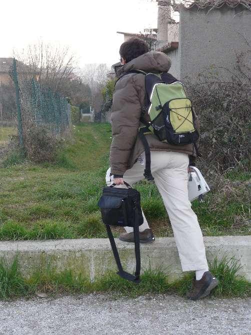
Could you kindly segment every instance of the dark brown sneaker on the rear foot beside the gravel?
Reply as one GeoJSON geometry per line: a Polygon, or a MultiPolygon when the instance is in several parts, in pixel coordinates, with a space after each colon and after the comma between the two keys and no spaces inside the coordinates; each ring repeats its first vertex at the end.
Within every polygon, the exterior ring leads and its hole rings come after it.
{"type": "Polygon", "coordinates": [[[217,284],[218,279],[213,277],[209,271],[206,271],[200,280],[193,279],[192,288],[186,296],[191,300],[201,299],[208,295],[217,284]]]}

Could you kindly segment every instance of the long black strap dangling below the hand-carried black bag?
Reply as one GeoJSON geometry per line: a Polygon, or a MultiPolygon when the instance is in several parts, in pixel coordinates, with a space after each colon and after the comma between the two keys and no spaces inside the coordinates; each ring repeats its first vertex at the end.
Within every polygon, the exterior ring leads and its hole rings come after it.
{"type": "Polygon", "coordinates": [[[140,274],[140,246],[139,246],[139,229],[138,229],[138,215],[137,215],[137,211],[136,209],[134,209],[134,227],[133,227],[133,234],[134,234],[134,244],[135,244],[135,258],[136,258],[136,270],[135,270],[135,275],[128,273],[126,271],[123,270],[121,262],[120,262],[120,258],[119,258],[119,254],[117,251],[117,247],[116,247],[116,243],[114,241],[114,237],[112,235],[112,232],[110,230],[110,226],[109,225],[105,225],[106,230],[107,230],[107,234],[109,237],[109,241],[110,241],[110,245],[111,245],[111,249],[117,264],[117,274],[126,279],[126,280],[130,280],[133,281],[134,283],[139,283],[140,279],[139,279],[139,274],[140,274]]]}

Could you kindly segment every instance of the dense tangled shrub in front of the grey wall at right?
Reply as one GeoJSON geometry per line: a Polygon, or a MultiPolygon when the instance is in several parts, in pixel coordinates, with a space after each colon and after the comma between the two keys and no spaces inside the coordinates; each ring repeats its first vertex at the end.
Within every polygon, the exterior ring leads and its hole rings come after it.
{"type": "Polygon", "coordinates": [[[187,85],[200,119],[202,158],[198,165],[206,175],[250,167],[251,69],[245,61],[248,53],[237,56],[231,80],[224,81],[208,69],[195,85],[187,85]]]}

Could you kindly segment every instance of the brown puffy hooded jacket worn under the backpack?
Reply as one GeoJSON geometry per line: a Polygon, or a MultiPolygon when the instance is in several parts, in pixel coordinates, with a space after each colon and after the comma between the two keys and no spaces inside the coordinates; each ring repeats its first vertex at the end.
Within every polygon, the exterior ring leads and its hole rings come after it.
{"type": "MultiPolygon", "coordinates": [[[[111,174],[122,176],[130,169],[138,156],[144,152],[144,147],[138,137],[140,115],[144,105],[145,76],[139,73],[124,73],[132,70],[142,70],[146,73],[167,72],[171,62],[161,52],[143,54],[123,66],[115,67],[120,78],[114,89],[111,127],[112,142],[110,146],[111,174]]],[[[195,121],[198,128],[198,120],[195,121]]],[[[196,157],[192,144],[171,145],[158,140],[155,135],[146,136],[151,151],[176,151],[196,157]]]]}

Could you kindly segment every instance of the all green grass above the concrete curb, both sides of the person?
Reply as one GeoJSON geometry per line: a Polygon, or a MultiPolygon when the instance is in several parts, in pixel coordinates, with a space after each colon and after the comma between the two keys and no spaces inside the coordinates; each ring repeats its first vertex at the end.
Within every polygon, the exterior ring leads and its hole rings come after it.
{"type": "MultiPolygon", "coordinates": [[[[23,162],[0,168],[0,240],[106,237],[96,204],[104,185],[110,142],[110,125],[82,124],[74,128],[72,143],[58,154],[56,164],[23,162]]],[[[193,202],[204,234],[251,233],[251,175],[241,176],[235,193],[217,196],[211,192],[204,204],[193,202]]],[[[234,182],[240,175],[231,178],[234,182]]],[[[155,235],[171,236],[155,186],[143,181],[136,187],[155,235]]]]}

